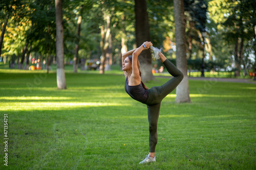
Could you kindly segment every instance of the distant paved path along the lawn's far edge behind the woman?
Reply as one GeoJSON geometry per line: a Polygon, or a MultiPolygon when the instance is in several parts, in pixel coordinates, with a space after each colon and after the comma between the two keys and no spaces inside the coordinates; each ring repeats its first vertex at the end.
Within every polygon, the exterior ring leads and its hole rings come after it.
{"type": "MultiPolygon", "coordinates": [[[[166,76],[156,76],[161,78],[167,78],[166,76]]],[[[234,79],[234,78],[201,78],[201,77],[188,77],[188,80],[206,80],[206,81],[219,81],[219,82],[233,82],[233,83],[249,83],[256,84],[256,81],[253,79],[234,79]]]]}

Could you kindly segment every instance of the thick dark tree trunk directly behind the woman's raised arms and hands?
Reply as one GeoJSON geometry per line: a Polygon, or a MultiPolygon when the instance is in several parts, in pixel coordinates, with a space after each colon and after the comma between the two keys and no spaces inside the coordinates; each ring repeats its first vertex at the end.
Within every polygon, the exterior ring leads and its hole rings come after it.
{"type": "MultiPolygon", "coordinates": [[[[148,24],[147,4],[145,0],[135,0],[135,33],[137,47],[145,41],[150,41],[150,26],[148,24]]],[[[143,82],[153,80],[150,51],[143,51],[139,56],[139,61],[141,80],[143,82]]]]}

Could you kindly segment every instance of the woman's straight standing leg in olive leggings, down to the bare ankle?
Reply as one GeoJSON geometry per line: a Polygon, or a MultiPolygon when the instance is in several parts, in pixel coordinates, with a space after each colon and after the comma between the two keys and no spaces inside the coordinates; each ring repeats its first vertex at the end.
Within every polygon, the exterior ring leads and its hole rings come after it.
{"type": "Polygon", "coordinates": [[[157,145],[157,123],[160,112],[161,103],[156,105],[147,105],[147,118],[150,130],[150,156],[155,157],[155,149],[157,145]],[[153,154],[154,153],[154,154],[153,154]]]}

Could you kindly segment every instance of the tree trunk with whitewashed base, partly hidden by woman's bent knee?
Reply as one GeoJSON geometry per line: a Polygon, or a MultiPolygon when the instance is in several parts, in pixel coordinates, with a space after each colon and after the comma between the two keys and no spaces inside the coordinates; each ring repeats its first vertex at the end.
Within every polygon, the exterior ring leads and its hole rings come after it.
{"type": "Polygon", "coordinates": [[[187,60],[186,60],[186,40],[185,40],[185,16],[184,1],[174,0],[175,36],[176,36],[176,64],[182,71],[184,78],[176,88],[176,103],[190,102],[187,60]]]}

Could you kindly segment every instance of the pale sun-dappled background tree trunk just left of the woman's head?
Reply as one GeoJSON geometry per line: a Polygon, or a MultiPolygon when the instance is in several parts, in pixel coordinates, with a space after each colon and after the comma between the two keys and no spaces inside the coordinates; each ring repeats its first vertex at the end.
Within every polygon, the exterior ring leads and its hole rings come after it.
{"type": "Polygon", "coordinates": [[[104,17],[105,24],[101,26],[100,48],[101,48],[102,56],[100,59],[100,67],[99,67],[100,74],[104,74],[106,51],[109,48],[109,36],[110,36],[110,14],[105,12],[103,17],[104,17]]]}

